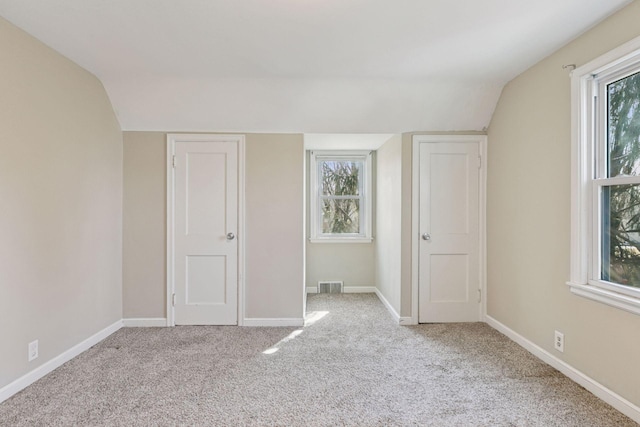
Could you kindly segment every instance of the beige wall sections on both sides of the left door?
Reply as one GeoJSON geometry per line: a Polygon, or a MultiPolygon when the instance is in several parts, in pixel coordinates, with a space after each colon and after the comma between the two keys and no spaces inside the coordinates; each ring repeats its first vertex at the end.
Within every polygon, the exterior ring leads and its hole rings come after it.
{"type": "MultiPolygon", "coordinates": [[[[166,133],[124,133],[125,318],[166,317],[166,133]]],[[[303,317],[302,135],[246,135],[245,317],[303,317]]]]}

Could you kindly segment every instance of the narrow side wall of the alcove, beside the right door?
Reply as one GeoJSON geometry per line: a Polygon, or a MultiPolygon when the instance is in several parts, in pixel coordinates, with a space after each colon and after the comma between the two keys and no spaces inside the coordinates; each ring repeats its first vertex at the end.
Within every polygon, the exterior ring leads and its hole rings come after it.
{"type": "Polygon", "coordinates": [[[402,283],[402,136],[378,149],[376,198],[376,287],[400,313],[402,283]]]}

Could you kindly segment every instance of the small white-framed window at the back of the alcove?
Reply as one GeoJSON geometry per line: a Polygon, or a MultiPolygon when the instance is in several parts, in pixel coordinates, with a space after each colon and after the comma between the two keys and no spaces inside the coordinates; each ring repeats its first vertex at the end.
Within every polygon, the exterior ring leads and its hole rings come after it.
{"type": "Polygon", "coordinates": [[[371,153],[311,152],[311,241],[371,241],[371,153]]]}

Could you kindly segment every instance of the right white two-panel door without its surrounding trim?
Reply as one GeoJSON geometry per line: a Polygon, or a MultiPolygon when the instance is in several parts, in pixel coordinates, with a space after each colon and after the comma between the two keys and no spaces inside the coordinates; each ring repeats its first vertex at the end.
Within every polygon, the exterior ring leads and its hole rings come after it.
{"type": "Polygon", "coordinates": [[[420,323],[480,320],[479,143],[420,143],[420,323]]]}

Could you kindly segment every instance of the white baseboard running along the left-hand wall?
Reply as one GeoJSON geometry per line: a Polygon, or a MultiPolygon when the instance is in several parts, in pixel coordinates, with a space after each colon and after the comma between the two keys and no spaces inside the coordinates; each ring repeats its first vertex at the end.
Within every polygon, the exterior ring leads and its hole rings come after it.
{"type": "Polygon", "coordinates": [[[120,328],[122,328],[122,320],[118,320],[114,324],[107,326],[100,332],[97,332],[92,336],[90,336],[89,338],[87,338],[86,340],[80,342],[79,344],[74,345],[69,350],[63,352],[62,354],[59,354],[58,356],[54,357],[48,362],[43,363],[42,365],[38,366],[37,368],[28,372],[27,374],[21,376],[20,378],[13,381],[12,383],[9,383],[6,386],[0,388],[0,403],[4,402],[8,398],[13,396],[17,392],[19,392],[20,390],[24,389],[25,387],[38,381],[40,378],[44,377],[49,372],[62,366],[69,360],[78,356],[80,353],[98,344],[100,341],[102,341],[112,333],[116,332],[120,328]]]}

